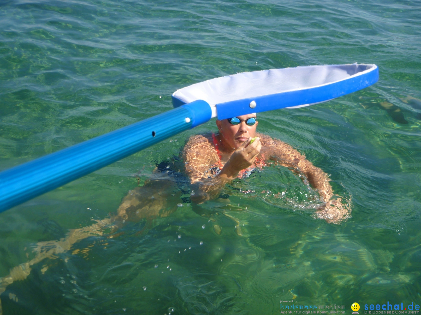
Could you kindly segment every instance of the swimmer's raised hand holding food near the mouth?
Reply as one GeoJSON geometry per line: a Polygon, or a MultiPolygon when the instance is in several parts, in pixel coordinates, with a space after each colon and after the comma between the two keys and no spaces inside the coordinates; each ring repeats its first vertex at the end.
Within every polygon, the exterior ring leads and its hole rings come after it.
{"type": "Polygon", "coordinates": [[[232,179],[237,177],[240,171],[253,165],[254,160],[260,153],[262,145],[259,137],[256,137],[255,141],[251,144],[250,140],[251,137],[232,153],[228,162],[222,168],[221,174],[225,174],[227,178],[232,179]]]}

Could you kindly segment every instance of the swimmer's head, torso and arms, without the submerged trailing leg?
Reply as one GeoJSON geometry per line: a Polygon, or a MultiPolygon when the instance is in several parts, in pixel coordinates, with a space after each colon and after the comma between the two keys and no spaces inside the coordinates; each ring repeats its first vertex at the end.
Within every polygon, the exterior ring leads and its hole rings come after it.
{"type": "Polygon", "coordinates": [[[192,184],[192,202],[203,203],[218,197],[225,184],[271,161],[304,174],[323,202],[316,212],[318,218],[339,223],[349,217],[349,209],[341,203],[341,198],[332,199],[326,173],[290,145],[256,134],[255,113],[217,120],[216,125],[218,134],[192,136],[184,146],[183,160],[192,184]],[[255,136],[256,140],[250,144],[255,136]]]}

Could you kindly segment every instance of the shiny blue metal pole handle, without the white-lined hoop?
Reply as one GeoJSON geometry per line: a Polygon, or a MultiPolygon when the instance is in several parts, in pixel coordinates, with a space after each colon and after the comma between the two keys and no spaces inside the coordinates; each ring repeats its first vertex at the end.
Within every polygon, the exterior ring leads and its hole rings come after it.
{"type": "Polygon", "coordinates": [[[0,212],[209,121],[198,100],[0,173],[0,212]]]}

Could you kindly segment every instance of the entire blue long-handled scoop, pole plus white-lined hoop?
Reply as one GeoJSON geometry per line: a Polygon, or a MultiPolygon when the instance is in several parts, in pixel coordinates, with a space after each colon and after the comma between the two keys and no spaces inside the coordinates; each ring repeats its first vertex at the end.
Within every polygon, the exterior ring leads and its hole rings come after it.
{"type": "Polygon", "coordinates": [[[193,84],[173,93],[173,110],[1,172],[0,212],[210,118],[308,106],[376,81],[376,65],[354,63],[244,72],[193,84]]]}

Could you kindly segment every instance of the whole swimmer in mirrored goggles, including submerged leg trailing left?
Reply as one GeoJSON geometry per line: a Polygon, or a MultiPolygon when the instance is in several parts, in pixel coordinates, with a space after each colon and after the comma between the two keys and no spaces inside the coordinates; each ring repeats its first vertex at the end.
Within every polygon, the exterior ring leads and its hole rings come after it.
{"type": "MultiPolygon", "coordinates": [[[[221,189],[234,178],[248,176],[253,169],[261,168],[271,161],[304,174],[323,202],[315,212],[318,218],[328,223],[340,223],[349,217],[349,207],[341,203],[341,198],[331,199],[333,191],[326,173],[290,145],[270,136],[256,134],[256,114],[217,120],[216,125],[218,134],[192,136],[182,152],[184,172],[191,185],[192,202],[203,203],[217,198],[221,189]],[[250,144],[250,140],[255,136],[256,140],[250,144]]],[[[174,178],[162,172],[155,172],[144,186],[138,186],[128,192],[117,209],[117,215],[96,220],[91,226],[71,229],[62,239],[35,244],[32,251],[35,257],[32,260],[12,268],[9,275],[0,278],[0,294],[14,281],[27,278],[32,265],[45,258],[55,259],[67,251],[72,251],[74,255],[87,255],[89,249],[74,248],[74,244],[82,239],[91,236],[114,238],[123,233],[120,230],[126,221],[146,220],[147,223],[140,233],[147,231],[155,218],[166,217],[178,208],[180,196],[181,192],[174,178]]],[[[224,215],[236,221],[238,227],[236,218],[228,213],[224,215]]],[[[219,234],[220,228],[215,225],[214,229],[219,234]]],[[[241,235],[240,229],[237,229],[237,233],[241,235]]],[[[47,269],[48,264],[44,264],[42,273],[47,269]]]]}

